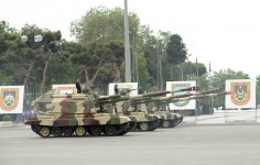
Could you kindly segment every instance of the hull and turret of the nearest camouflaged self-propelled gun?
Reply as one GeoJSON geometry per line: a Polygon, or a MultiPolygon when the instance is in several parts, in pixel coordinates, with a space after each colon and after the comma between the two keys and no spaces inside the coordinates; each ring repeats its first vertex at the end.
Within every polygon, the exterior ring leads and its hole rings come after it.
{"type": "MultiPolygon", "coordinates": [[[[111,96],[118,97],[118,96],[111,96]]],[[[90,135],[122,135],[129,131],[128,117],[109,113],[98,113],[100,100],[111,97],[97,97],[94,94],[61,95],[48,91],[32,102],[37,111],[36,117],[30,118],[32,131],[42,138],[90,135]]]]}

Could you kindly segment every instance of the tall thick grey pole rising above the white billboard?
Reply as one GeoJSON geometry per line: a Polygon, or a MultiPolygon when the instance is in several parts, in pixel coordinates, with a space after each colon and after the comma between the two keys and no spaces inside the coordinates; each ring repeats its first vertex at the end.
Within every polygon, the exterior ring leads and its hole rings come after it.
{"type": "Polygon", "coordinates": [[[128,1],[124,0],[124,65],[126,65],[126,82],[131,82],[131,54],[129,43],[129,22],[128,22],[128,1]]]}

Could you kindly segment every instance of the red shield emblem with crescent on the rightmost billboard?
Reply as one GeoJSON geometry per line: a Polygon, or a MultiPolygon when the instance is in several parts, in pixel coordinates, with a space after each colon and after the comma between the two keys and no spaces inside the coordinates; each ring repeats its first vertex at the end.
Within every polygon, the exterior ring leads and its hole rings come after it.
{"type": "Polygon", "coordinates": [[[237,106],[245,106],[250,100],[250,82],[231,82],[231,101],[237,106]]]}

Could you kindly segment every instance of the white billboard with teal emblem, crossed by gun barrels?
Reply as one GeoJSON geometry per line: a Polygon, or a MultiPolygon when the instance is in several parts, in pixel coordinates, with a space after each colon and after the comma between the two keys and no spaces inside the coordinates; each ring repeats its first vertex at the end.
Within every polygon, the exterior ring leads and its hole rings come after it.
{"type": "MultiPolygon", "coordinates": [[[[188,88],[196,86],[196,81],[166,81],[166,90],[178,90],[183,88],[188,88]]],[[[184,95],[184,94],[189,94],[191,91],[182,91],[182,92],[175,92],[175,94],[169,94],[167,97],[170,96],[177,96],[177,95],[184,95]]],[[[196,101],[195,100],[186,100],[186,101],[180,101],[180,102],[173,102],[170,103],[170,109],[171,110],[191,110],[191,109],[196,109],[196,101]]]]}

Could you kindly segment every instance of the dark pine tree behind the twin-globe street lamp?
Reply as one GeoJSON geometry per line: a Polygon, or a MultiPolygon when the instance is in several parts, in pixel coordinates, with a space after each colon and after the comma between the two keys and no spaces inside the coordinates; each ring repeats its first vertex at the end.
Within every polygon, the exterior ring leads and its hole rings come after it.
{"type": "Polygon", "coordinates": [[[22,35],[28,36],[28,41],[23,46],[26,50],[23,55],[25,57],[23,61],[24,65],[28,65],[29,62],[29,67],[25,69],[24,85],[28,84],[29,77],[34,69],[34,77],[36,74],[42,75],[40,86],[40,94],[42,95],[45,88],[47,67],[59,50],[58,42],[62,38],[62,34],[59,31],[52,32],[47,29],[40,29],[36,25],[26,24],[22,29],[22,35]],[[36,42],[36,35],[42,35],[43,40],[36,42]]]}

